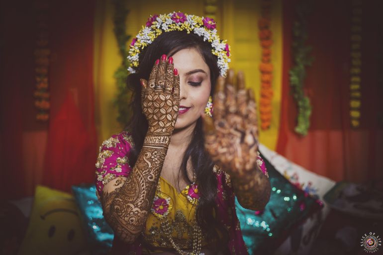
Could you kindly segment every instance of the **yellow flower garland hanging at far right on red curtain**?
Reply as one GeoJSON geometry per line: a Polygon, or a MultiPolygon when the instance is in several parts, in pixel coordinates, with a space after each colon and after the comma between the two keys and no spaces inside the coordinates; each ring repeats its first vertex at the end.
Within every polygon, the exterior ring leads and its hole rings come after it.
{"type": "Polygon", "coordinates": [[[352,1],[351,21],[350,120],[351,127],[358,128],[361,118],[362,0],[352,1]]]}

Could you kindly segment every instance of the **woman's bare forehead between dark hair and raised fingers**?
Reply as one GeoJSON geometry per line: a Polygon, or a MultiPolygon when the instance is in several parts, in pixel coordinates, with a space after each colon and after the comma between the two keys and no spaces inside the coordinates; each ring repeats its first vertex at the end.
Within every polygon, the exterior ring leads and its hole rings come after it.
{"type": "Polygon", "coordinates": [[[203,60],[201,54],[194,48],[180,50],[172,57],[174,67],[177,68],[180,73],[189,72],[194,69],[202,69],[207,74],[209,73],[209,67],[203,60]]]}

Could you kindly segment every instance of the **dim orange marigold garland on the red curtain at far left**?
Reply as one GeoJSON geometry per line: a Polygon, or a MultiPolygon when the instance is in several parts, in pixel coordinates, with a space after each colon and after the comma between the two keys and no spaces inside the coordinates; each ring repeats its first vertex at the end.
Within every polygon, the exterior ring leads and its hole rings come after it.
{"type": "Polygon", "coordinates": [[[38,109],[36,119],[43,122],[49,119],[50,109],[48,71],[51,50],[48,40],[47,6],[47,2],[36,2],[37,38],[34,50],[36,90],[33,95],[36,98],[34,105],[38,109]]]}

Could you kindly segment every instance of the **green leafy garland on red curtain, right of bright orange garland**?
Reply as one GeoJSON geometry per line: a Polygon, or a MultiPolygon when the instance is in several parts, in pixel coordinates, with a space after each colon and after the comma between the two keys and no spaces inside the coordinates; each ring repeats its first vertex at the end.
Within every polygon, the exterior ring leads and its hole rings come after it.
{"type": "Polygon", "coordinates": [[[306,66],[311,66],[313,57],[309,56],[312,47],[305,45],[308,38],[307,16],[313,8],[313,0],[300,0],[296,5],[297,20],[292,27],[292,58],[294,65],[289,71],[292,95],[298,107],[297,125],[294,131],[302,136],[307,135],[310,127],[310,98],[303,91],[306,77],[306,66]]]}

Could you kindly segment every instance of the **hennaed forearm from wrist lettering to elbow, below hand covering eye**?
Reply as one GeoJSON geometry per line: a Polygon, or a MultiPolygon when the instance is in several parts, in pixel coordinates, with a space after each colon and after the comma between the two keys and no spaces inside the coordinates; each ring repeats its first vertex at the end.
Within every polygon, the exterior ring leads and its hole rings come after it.
{"type": "Polygon", "coordinates": [[[145,227],[169,141],[167,136],[147,136],[130,175],[102,195],[105,220],[123,242],[134,242],[145,227]],[[159,140],[166,142],[150,142],[159,140]]]}

